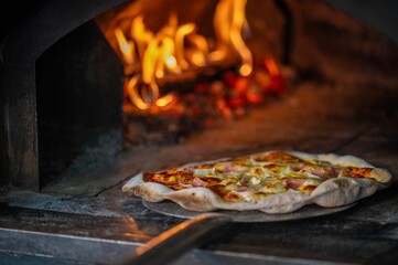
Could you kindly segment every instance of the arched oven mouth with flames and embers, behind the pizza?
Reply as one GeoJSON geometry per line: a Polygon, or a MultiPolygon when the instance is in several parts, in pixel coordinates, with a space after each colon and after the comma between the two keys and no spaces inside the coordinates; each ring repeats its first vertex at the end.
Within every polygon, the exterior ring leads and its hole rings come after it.
{"type": "Polygon", "coordinates": [[[190,161],[351,152],[375,123],[395,117],[396,46],[329,3],[121,2],[88,9],[104,10],[86,22],[66,10],[73,29],[34,60],[26,51],[35,42],[18,42],[15,56],[26,53],[20,60],[33,72],[4,65],[4,84],[32,93],[7,88],[19,105],[2,103],[6,186],[98,194],[190,161]]]}

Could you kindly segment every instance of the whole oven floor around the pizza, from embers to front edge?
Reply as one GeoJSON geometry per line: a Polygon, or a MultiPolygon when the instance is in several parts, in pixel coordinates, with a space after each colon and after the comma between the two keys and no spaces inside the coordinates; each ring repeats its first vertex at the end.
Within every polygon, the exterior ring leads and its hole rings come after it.
{"type": "MultiPolygon", "coordinates": [[[[121,186],[141,170],[271,149],[354,155],[398,176],[397,82],[302,83],[178,146],[137,147],[101,172],[0,197],[1,264],[109,264],[182,222],[121,186]],[[99,177],[98,177],[99,176],[99,177]]],[[[332,215],[230,224],[175,264],[363,264],[398,259],[398,184],[332,215]]]]}

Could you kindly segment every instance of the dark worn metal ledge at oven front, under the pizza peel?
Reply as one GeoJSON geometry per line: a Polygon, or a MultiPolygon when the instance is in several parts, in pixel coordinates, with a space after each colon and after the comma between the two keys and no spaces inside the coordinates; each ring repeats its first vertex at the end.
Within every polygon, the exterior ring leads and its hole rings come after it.
{"type": "MultiPolygon", "coordinates": [[[[230,223],[172,264],[395,264],[397,205],[394,183],[331,215],[230,223]]],[[[111,263],[182,221],[149,210],[140,198],[121,191],[95,198],[1,193],[0,264],[111,263]]]]}

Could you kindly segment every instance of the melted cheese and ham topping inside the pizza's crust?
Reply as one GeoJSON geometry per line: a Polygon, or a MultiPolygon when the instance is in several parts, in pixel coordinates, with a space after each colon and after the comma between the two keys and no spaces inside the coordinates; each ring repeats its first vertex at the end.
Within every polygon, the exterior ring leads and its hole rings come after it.
{"type": "Polygon", "coordinates": [[[331,178],[373,178],[374,174],[373,168],[338,167],[275,151],[146,173],[144,181],[162,183],[172,190],[205,187],[226,201],[254,202],[276,193],[311,194],[318,186],[331,178]]]}

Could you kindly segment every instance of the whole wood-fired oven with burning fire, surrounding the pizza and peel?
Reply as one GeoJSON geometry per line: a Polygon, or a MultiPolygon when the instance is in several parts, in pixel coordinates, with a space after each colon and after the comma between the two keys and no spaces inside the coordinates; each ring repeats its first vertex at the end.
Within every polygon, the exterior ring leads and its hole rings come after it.
{"type": "MultiPolygon", "coordinates": [[[[239,24],[239,2],[40,1],[22,18],[4,6],[0,261],[114,263],[180,223],[121,193],[142,170],[298,149],[398,174],[394,23],[374,23],[387,17],[369,1],[346,13],[248,0],[239,24]]],[[[394,183],[330,216],[232,224],[176,263],[392,263],[397,194],[394,183]]]]}

